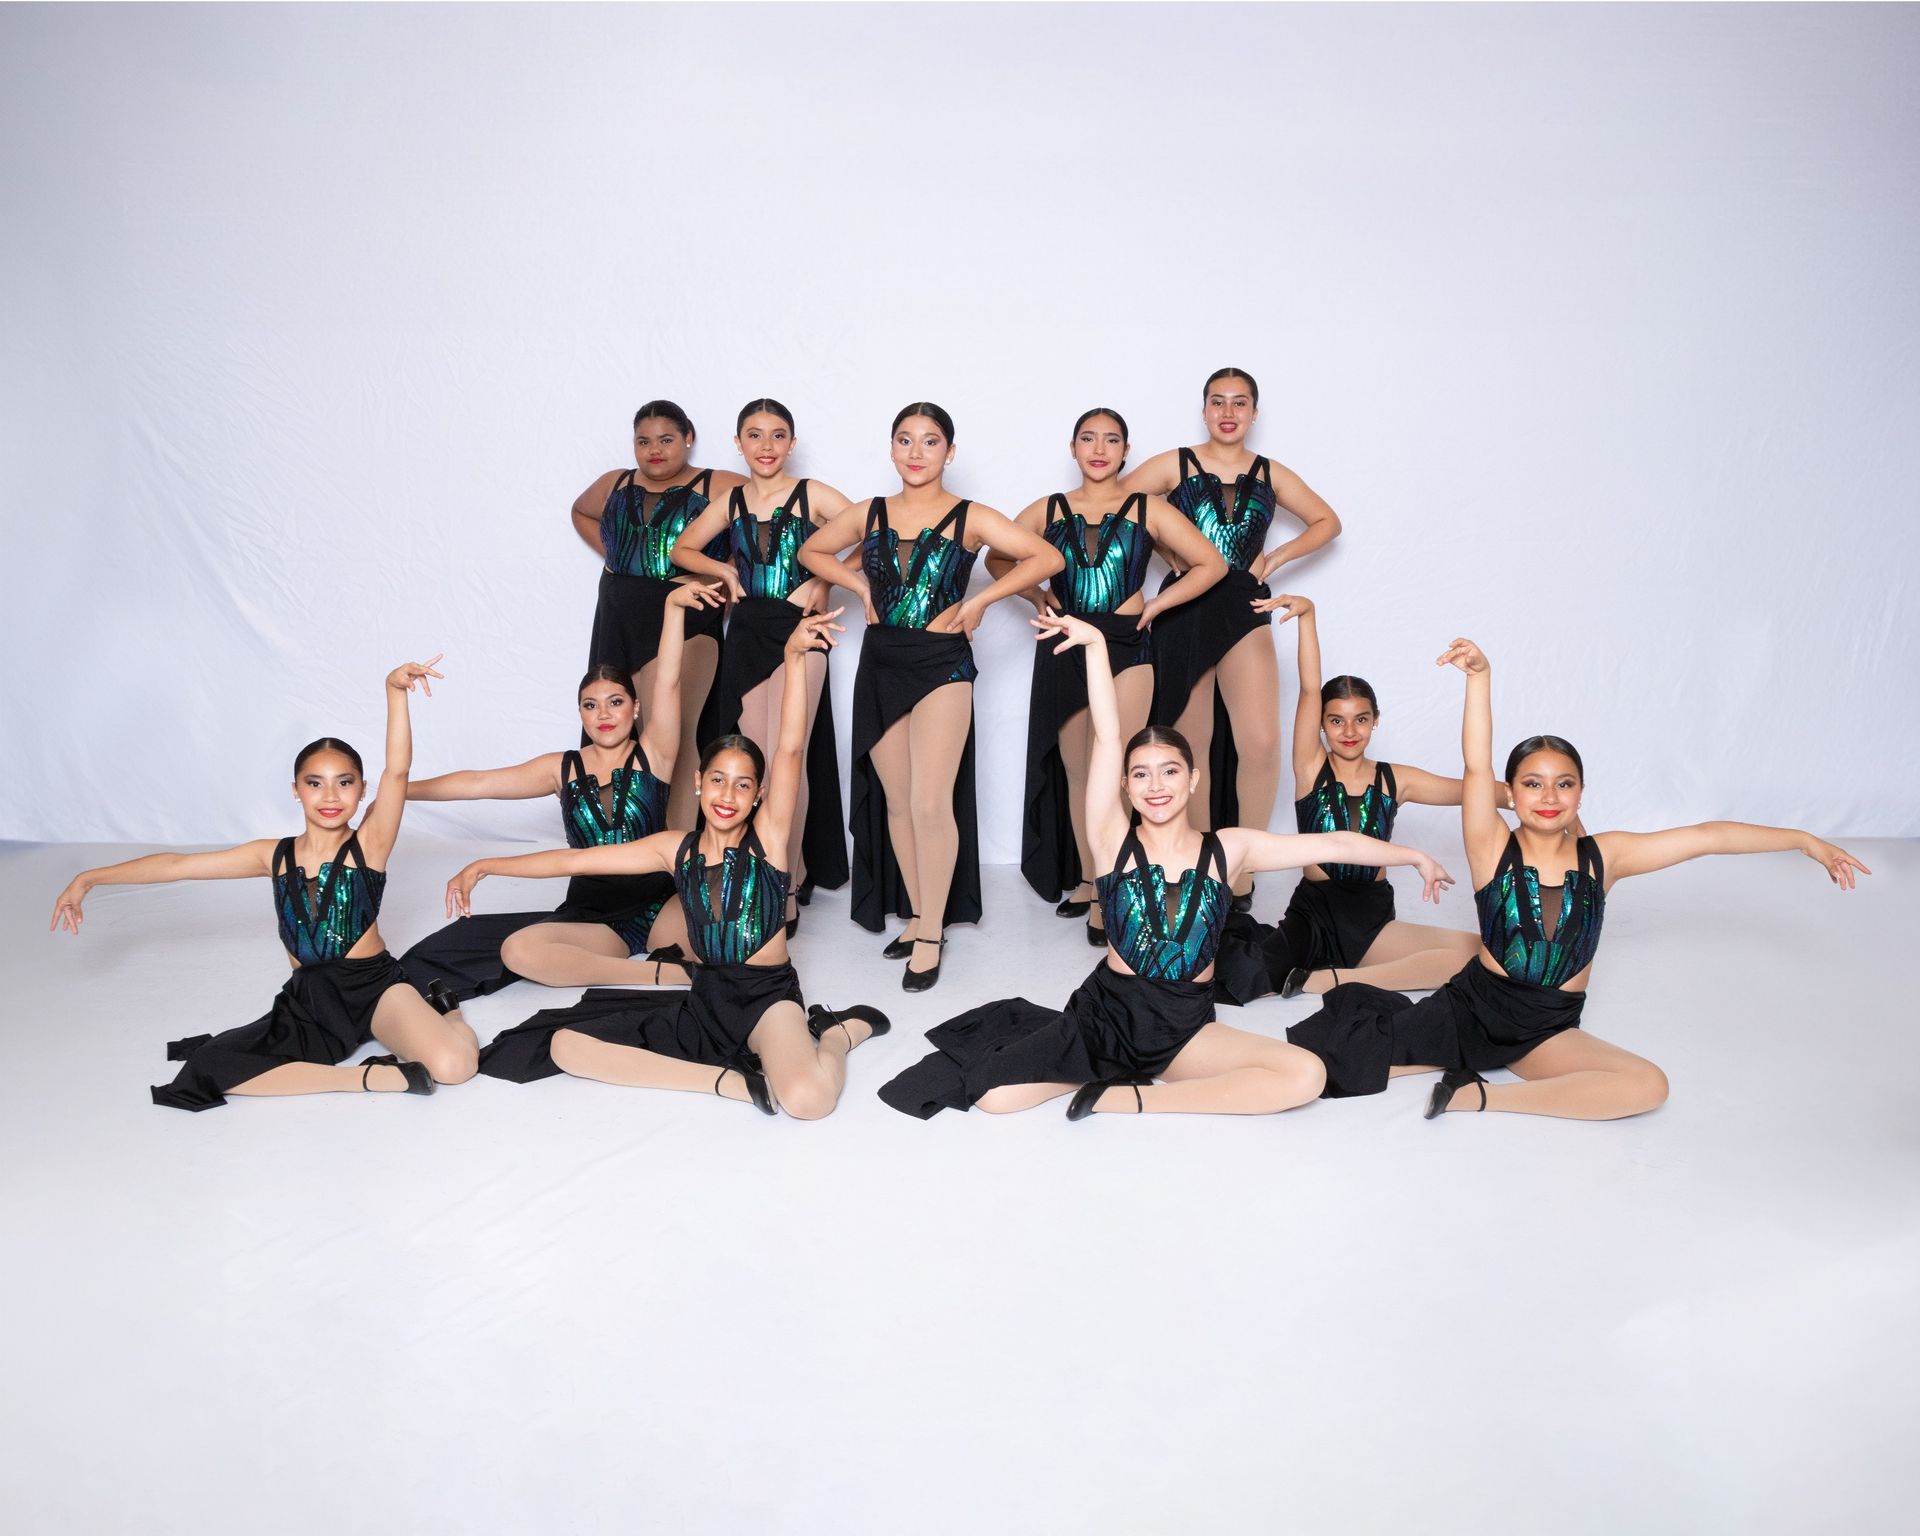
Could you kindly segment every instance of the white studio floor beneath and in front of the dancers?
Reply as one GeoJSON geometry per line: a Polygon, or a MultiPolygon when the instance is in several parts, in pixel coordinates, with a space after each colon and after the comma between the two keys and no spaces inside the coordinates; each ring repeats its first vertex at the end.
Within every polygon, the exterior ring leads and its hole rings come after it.
{"type": "MultiPolygon", "coordinates": [[[[897,1116],[927,1025],[1092,964],[1004,868],[918,998],[808,910],[808,995],[897,1025],[822,1123],[564,1079],[186,1116],[163,1043],[284,977],[265,887],[102,891],[75,941],[56,891],[125,852],[0,851],[4,1526],[1912,1530],[1920,845],[1855,851],[1853,895],[1791,856],[1615,895],[1588,1023],[1672,1077],[1617,1125],[1425,1123],[1423,1083],[897,1116]]],[[[401,845],[396,948],[465,856],[401,845]]]]}

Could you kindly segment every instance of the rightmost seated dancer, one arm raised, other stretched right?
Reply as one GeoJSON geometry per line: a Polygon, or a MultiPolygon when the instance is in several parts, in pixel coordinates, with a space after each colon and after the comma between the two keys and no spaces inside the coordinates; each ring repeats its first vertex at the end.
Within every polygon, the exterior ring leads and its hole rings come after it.
{"type": "Polygon", "coordinates": [[[1519,820],[1509,829],[1494,781],[1486,657],[1471,639],[1455,639],[1440,664],[1467,674],[1459,820],[1480,908],[1480,952],[1419,1002],[1342,983],[1286,1039],[1327,1064],[1329,1098],[1380,1092],[1402,1073],[1438,1071],[1428,1119],[1442,1110],[1622,1119],[1659,1108],[1667,1102],[1665,1073],[1580,1027],[1613,885],[1713,852],[1797,851],[1847,891],[1868,870],[1809,831],[1745,822],[1578,835],[1586,770],[1557,735],[1532,735],[1507,755],[1519,820]],[[1521,1081],[1488,1083],[1480,1073],[1494,1068],[1521,1081]]]}

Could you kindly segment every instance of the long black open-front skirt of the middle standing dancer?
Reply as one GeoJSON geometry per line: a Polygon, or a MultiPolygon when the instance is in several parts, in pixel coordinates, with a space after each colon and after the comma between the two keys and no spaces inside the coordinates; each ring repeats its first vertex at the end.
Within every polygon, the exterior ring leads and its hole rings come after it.
{"type": "MultiPolygon", "coordinates": [[[[912,916],[906,881],[893,856],[887,791],[874,766],[874,747],[887,726],[935,687],[973,682],[973,647],[966,636],[868,624],[852,676],[852,920],[879,933],[887,914],[912,916]]],[[[960,847],[941,925],[979,922],[979,812],[973,803],[973,705],[968,701],[966,749],[954,778],[954,828],[960,847]]]]}

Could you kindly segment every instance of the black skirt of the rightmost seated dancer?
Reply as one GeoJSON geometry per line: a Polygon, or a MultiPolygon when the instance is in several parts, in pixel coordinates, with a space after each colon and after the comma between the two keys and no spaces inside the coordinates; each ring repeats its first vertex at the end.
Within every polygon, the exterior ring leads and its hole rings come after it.
{"type": "Polygon", "coordinates": [[[1352,1098],[1384,1089],[1388,1068],[1503,1068],[1578,1029],[1582,1008],[1586,993],[1513,981],[1475,956],[1419,1002],[1344,981],[1286,1039],[1327,1064],[1321,1098],[1352,1098]]]}

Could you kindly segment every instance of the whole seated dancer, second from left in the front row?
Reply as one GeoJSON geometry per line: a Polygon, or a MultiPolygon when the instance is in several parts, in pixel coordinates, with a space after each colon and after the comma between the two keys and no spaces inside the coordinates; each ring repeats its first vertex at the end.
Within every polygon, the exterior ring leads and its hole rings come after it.
{"type": "Polygon", "coordinates": [[[447,908],[465,912],[490,874],[639,876],[670,872],[699,966],[691,993],[589,991],[572,1008],[547,1008],[501,1033],[480,1071],[511,1083],[555,1073],[637,1089],[684,1089],[778,1104],[818,1119],[839,1102],[847,1052],[887,1033],[872,1008],[803,1012],[801,979],[787,958],[787,847],[806,756],[806,653],[833,645],[839,609],[808,614],[785,647],[780,747],[766,770],[743,735],[710,741],[699,772],[693,831],[637,843],[482,858],[447,885],[447,908]]]}

